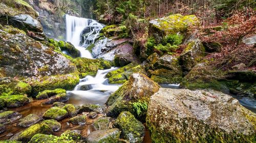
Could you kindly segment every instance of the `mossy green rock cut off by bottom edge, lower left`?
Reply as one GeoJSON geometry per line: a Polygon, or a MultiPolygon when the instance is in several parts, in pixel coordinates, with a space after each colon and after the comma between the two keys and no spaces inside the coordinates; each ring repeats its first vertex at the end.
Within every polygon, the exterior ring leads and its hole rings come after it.
{"type": "Polygon", "coordinates": [[[52,142],[54,140],[53,135],[48,134],[35,134],[29,141],[29,143],[46,143],[46,142],[52,142]]]}

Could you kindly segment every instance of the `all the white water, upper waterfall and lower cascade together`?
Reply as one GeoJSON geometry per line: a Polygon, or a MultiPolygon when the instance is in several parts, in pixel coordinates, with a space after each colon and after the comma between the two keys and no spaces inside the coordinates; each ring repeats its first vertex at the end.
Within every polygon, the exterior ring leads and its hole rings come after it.
{"type": "MultiPolygon", "coordinates": [[[[92,54],[86,50],[86,47],[95,42],[103,25],[92,19],[66,15],[66,26],[67,41],[71,42],[81,52],[81,57],[93,59],[92,54]],[[79,45],[81,32],[87,27],[90,28],[90,32],[86,34],[83,45],[79,45]]],[[[116,69],[112,67],[108,70],[98,70],[95,77],[86,76],[80,79],[75,89],[67,92],[70,94],[70,102],[78,105],[84,103],[104,104],[110,94],[119,88],[119,85],[108,84],[108,79],[105,78],[108,72],[116,69]],[[91,89],[87,91],[80,90],[82,85],[90,85],[91,89]]]]}

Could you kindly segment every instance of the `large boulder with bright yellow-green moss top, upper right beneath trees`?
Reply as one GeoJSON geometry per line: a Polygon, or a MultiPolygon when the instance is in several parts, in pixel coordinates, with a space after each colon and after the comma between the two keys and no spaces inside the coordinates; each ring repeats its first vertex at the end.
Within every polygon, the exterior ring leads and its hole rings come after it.
{"type": "Polygon", "coordinates": [[[150,21],[148,34],[159,43],[163,37],[169,34],[184,34],[189,25],[199,25],[199,19],[195,15],[182,16],[173,14],[160,19],[150,21]]]}

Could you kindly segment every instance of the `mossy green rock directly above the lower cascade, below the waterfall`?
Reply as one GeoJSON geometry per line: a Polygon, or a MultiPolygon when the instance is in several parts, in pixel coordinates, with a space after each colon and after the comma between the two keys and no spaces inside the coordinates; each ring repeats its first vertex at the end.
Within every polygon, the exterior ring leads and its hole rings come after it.
{"type": "Polygon", "coordinates": [[[94,76],[97,74],[98,70],[111,68],[111,63],[102,59],[76,58],[73,62],[75,63],[81,78],[87,75],[94,76]]]}

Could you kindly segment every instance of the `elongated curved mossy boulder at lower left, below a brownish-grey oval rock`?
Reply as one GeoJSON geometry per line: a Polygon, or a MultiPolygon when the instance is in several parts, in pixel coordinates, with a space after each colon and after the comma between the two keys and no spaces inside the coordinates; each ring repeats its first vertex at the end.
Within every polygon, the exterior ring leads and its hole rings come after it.
{"type": "Polygon", "coordinates": [[[26,130],[22,131],[18,135],[17,140],[22,142],[28,142],[35,134],[38,134],[38,133],[52,134],[53,131],[48,125],[44,123],[35,124],[27,128],[26,130]]]}

